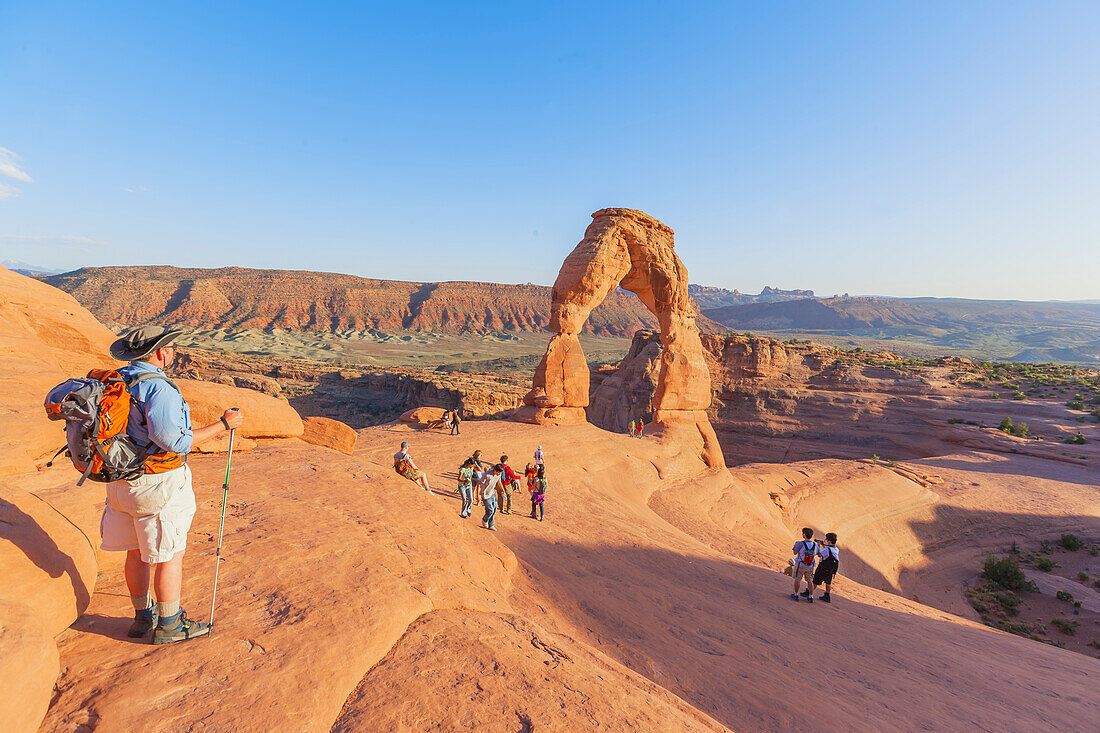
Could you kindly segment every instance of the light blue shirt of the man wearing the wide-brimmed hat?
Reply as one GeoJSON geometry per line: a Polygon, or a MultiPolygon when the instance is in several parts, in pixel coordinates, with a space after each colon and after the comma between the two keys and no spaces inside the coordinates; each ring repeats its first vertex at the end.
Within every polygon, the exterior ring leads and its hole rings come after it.
{"type": "MultiPolygon", "coordinates": [[[[141,372],[164,372],[144,361],[130,362],[119,370],[125,376],[141,372]]],[[[145,449],[146,456],[170,450],[187,453],[191,450],[191,408],[170,384],[164,380],[145,380],[130,391],[130,422],[127,433],[139,445],[154,444],[145,449]]]]}

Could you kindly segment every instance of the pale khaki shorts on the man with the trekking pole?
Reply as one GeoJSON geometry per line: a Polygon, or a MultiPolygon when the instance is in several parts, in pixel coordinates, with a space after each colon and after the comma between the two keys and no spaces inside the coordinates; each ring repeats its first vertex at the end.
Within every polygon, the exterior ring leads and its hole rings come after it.
{"type": "Polygon", "coordinates": [[[195,510],[187,466],[133,481],[111,481],[99,521],[100,547],[117,553],[136,549],[145,562],[167,562],[187,547],[195,510]]]}

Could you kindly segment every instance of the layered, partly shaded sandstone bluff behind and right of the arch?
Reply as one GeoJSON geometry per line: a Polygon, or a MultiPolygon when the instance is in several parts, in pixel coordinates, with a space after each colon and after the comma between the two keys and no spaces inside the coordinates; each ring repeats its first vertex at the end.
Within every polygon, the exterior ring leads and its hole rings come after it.
{"type": "MultiPolygon", "coordinates": [[[[702,339],[712,374],[708,414],[730,464],[873,455],[901,460],[959,447],[1079,461],[1080,455],[1093,452],[1092,446],[1060,440],[1077,431],[1092,444],[1100,439],[1090,418],[1080,424],[1082,413],[1066,407],[1072,393],[992,400],[989,389],[963,384],[972,369],[967,360],[915,365],[888,353],[851,354],[770,338],[702,339]],[[1032,434],[1047,440],[997,430],[1005,416],[1027,423],[1032,434]]],[[[659,357],[657,335],[639,332],[617,366],[593,374],[588,418],[625,431],[631,419],[648,417],[659,357]]]]}

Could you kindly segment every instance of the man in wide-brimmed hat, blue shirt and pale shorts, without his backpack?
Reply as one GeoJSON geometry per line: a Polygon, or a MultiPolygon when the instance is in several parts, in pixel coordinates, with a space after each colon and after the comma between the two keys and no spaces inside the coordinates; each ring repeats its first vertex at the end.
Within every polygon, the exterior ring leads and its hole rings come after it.
{"type": "Polygon", "coordinates": [[[239,411],[227,409],[217,423],[191,428],[190,407],[164,373],[175,358],[172,342],[182,332],[145,326],[111,344],[112,357],[130,362],[119,370],[132,397],[128,435],[145,446],[146,467],[158,461],[173,467],[108,483],[100,523],[102,548],[127,554],[127,588],[134,604],[130,636],[140,638],[154,630],[154,644],[183,642],[210,631],[209,624],[188,619],[179,608],[184,550],[196,510],[187,453],[242,422],[239,411]]]}

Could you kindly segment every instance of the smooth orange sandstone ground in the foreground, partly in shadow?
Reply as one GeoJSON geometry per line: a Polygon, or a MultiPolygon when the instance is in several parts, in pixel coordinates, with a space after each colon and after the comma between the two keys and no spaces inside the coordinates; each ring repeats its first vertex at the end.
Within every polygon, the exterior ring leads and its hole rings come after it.
{"type": "MultiPolygon", "coordinates": [[[[976,623],[963,599],[1015,537],[1100,532],[1096,472],[963,452],[927,489],[855,461],[706,471],[674,435],[383,426],[351,457],[234,459],[218,624],[125,638],[119,558],[59,641],[44,731],[1090,730],[1100,661],[976,623]],[[409,440],[439,491],[396,477],[409,440]],[[548,457],[547,521],[459,517],[474,448],[548,457]],[[780,508],[771,494],[781,496],[780,508]],[[831,605],[792,602],[796,529],[840,536],[831,605]],[[906,598],[908,597],[908,598],[906,598]]],[[[185,606],[209,611],[223,463],[193,460],[185,606]]]]}

